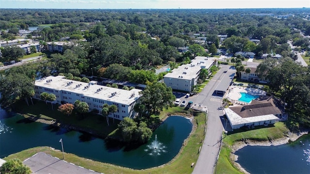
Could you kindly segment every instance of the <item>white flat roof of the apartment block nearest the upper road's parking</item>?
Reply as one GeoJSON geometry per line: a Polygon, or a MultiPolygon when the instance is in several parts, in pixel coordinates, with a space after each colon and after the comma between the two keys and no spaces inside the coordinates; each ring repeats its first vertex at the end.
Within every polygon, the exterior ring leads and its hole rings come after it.
{"type": "Polygon", "coordinates": [[[164,77],[192,80],[199,75],[198,73],[202,68],[209,69],[213,63],[213,58],[197,56],[189,64],[173,69],[171,73],[167,73],[164,77]]]}

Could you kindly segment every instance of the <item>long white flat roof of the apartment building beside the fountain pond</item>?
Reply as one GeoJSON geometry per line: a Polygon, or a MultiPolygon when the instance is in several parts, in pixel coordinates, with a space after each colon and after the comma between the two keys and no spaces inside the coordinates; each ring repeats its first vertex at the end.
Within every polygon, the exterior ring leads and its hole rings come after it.
{"type": "Polygon", "coordinates": [[[69,92],[74,92],[77,94],[84,95],[85,97],[96,98],[100,100],[110,101],[110,102],[117,102],[129,105],[132,102],[135,102],[140,98],[139,92],[140,89],[131,89],[131,90],[124,90],[118,89],[113,87],[105,87],[101,85],[89,85],[89,83],[78,82],[74,80],[64,79],[64,76],[48,76],[44,79],[38,79],[35,81],[35,85],[39,87],[47,87],[50,89],[55,90],[65,90],[69,92]],[[47,82],[47,80],[52,80],[51,82],[47,82]],[[69,82],[73,82],[70,85],[67,85],[69,82]],[[77,85],[80,85],[77,87],[77,85]],[[85,88],[89,85],[89,88],[85,88]],[[101,89],[97,91],[97,89],[101,89]],[[114,96],[111,93],[116,92],[114,96]],[[134,94],[133,97],[131,95],[134,94]]]}

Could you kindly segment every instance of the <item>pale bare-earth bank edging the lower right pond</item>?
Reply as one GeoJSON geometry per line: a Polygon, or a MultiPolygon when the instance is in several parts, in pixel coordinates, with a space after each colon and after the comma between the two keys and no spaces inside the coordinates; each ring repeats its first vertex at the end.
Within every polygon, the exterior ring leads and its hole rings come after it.
{"type": "Polygon", "coordinates": [[[254,146],[254,145],[260,145],[260,146],[284,145],[284,144],[289,143],[290,141],[294,142],[298,138],[300,138],[302,135],[305,135],[308,133],[309,133],[309,130],[301,131],[298,133],[292,133],[291,135],[287,135],[283,133],[283,135],[285,136],[284,138],[279,138],[279,139],[269,140],[269,141],[253,141],[253,140],[239,141],[239,142],[234,143],[233,146],[231,146],[232,152],[231,152],[230,159],[232,160],[233,165],[237,167],[242,173],[249,174],[248,171],[246,171],[238,162],[236,162],[236,160],[238,160],[238,156],[235,155],[234,153],[237,150],[240,150],[241,148],[247,145],[251,145],[251,146],[254,146]]]}

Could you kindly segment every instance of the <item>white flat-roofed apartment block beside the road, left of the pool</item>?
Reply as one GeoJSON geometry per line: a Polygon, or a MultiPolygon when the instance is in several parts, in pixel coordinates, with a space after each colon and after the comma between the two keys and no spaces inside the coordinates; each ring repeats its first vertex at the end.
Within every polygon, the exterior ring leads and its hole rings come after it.
{"type": "Polygon", "coordinates": [[[167,87],[175,90],[190,92],[192,87],[197,85],[200,71],[210,69],[216,65],[214,58],[196,57],[189,64],[181,65],[164,76],[164,83],[167,87]]]}

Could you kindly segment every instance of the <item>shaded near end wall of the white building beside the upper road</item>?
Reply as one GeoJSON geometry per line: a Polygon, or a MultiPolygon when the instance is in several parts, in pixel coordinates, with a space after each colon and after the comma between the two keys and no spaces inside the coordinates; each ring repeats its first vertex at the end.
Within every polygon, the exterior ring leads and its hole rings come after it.
{"type": "Polygon", "coordinates": [[[194,80],[164,77],[164,83],[166,84],[167,87],[171,87],[172,89],[182,91],[191,91],[191,87],[193,86],[192,84],[195,84],[194,80]]]}

